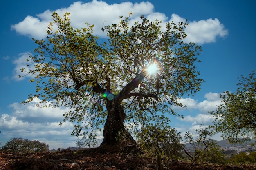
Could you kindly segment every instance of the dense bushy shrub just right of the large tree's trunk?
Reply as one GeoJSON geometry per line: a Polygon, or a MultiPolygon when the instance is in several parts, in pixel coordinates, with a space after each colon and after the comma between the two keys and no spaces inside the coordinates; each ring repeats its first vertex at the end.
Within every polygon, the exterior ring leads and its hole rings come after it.
{"type": "Polygon", "coordinates": [[[162,155],[165,159],[182,157],[182,137],[175,128],[170,128],[167,122],[150,124],[142,127],[137,133],[139,146],[150,155],[162,155]]]}

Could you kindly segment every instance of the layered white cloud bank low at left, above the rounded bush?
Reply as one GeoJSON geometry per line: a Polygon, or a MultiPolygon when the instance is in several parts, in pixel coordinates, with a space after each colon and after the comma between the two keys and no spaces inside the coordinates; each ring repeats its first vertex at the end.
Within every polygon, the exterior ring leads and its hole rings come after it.
{"type": "MultiPolygon", "coordinates": [[[[76,137],[70,136],[74,124],[64,122],[63,113],[68,108],[40,108],[35,106],[40,99],[36,99],[34,103],[9,105],[12,108],[11,114],[2,114],[0,117],[1,142],[4,139],[9,140],[13,137],[22,137],[29,140],[39,140],[49,144],[49,148],[72,147],[75,146],[76,137]]],[[[5,142],[6,142],[5,141],[5,142]]]]}

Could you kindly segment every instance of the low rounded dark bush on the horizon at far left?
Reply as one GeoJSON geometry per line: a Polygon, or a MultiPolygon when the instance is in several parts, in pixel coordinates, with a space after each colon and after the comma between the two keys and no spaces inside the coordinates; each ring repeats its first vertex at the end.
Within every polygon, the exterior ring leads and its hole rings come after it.
{"type": "Polygon", "coordinates": [[[49,151],[49,146],[36,140],[30,141],[23,138],[12,138],[2,147],[2,151],[19,154],[47,152],[49,151]]]}

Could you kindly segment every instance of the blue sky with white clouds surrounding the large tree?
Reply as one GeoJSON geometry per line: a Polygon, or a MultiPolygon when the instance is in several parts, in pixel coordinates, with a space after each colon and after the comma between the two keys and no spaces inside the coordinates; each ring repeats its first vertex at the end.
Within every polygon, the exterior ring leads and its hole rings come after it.
{"type": "MultiPolygon", "coordinates": [[[[194,97],[184,96],[181,101],[187,110],[173,108],[184,119],[171,117],[171,125],[182,134],[193,131],[201,122],[211,124],[207,111],[221,104],[218,97],[223,91],[236,91],[237,77],[256,69],[256,1],[254,0],[106,0],[80,2],[72,0],[3,1],[0,6],[0,143],[12,137],[39,140],[50,148],[74,146],[71,137],[73,125],[58,126],[68,108],[40,109],[36,104],[20,102],[34,93],[35,84],[29,77],[18,79],[19,69],[25,65],[27,53],[36,45],[31,40],[44,38],[52,11],[71,13],[74,27],[84,22],[94,24],[94,33],[102,38],[100,28],[119,21],[120,15],[133,12],[133,18],[144,14],[147,18],[175,22],[188,19],[186,41],[202,46],[197,64],[200,77],[205,80],[194,97]],[[115,4],[114,4],[115,3],[115,4]],[[72,17],[73,16],[73,17],[72,17]],[[105,24],[106,24],[105,23],[105,24]]],[[[38,99],[39,100],[39,99],[38,99]]],[[[219,135],[216,139],[220,139],[219,135]]],[[[0,145],[1,147],[2,145],[0,145]]]]}

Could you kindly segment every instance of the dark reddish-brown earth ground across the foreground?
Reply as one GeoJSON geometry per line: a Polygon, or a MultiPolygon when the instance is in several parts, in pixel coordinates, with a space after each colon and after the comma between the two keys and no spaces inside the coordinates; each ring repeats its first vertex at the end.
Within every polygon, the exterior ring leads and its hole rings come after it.
{"type": "MultiPolygon", "coordinates": [[[[104,148],[63,150],[36,154],[0,152],[0,170],[155,170],[155,159],[130,150],[109,152],[104,148]],[[126,153],[126,154],[125,154],[126,153]]],[[[187,161],[163,161],[165,170],[255,170],[256,165],[215,165],[187,161]]]]}

